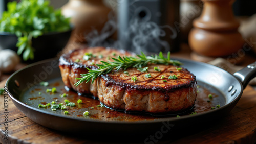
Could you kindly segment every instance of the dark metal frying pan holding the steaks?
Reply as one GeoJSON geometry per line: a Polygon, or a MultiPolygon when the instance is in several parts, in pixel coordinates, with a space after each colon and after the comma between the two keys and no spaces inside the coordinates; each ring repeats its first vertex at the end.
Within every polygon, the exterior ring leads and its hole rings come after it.
{"type": "Polygon", "coordinates": [[[20,95],[31,86],[39,83],[40,80],[51,81],[61,78],[58,68],[58,59],[49,59],[40,61],[13,73],[6,82],[8,94],[15,106],[22,111],[32,121],[59,131],[77,131],[84,130],[92,132],[118,132],[118,133],[140,133],[146,131],[160,131],[164,126],[167,129],[172,127],[181,127],[195,122],[208,122],[214,117],[223,117],[227,115],[238,103],[243,89],[248,82],[256,75],[256,63],[250,64],[234,75],[227,71],[202,62],[196,62],[185,59],[176,59],[182,62],[183,67],[193,73],[197,81],[210,90],[214,90],[224,97],[223,105],[214,110],[198,113],[196,115],[184,115],[177,117],[162,117],[147,121],[102,121],[100,119],[69,117],[65,115],[54,114],[49,111],[38,109],[21,102],[20,95]],[[46,70],[48,67],[48,70],[46,70]],[[49,67],[52,67],[52,69],[49,67]],[[49,72],[49,73],[48,73],[49,72]],[[51,72],[51,73],[50,73],[51,72]],[[44,74],[44,75],[43,75],[44,74]],[[41,75],[41,77],[40,77],[41,75]]]}

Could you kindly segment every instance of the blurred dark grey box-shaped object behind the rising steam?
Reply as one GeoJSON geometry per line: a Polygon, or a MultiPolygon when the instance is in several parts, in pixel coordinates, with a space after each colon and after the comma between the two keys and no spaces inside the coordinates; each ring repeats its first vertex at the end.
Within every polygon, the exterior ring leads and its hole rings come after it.
{"type": "Polygon", "coordinates": [[[120,0],[118,6],[121,48],[147,53],[179,50],[179,0],[120,0]]]}

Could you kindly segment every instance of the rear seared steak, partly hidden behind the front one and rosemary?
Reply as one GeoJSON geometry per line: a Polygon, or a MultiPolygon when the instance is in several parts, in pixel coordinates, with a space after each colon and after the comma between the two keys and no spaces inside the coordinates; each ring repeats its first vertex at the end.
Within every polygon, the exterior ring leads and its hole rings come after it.
{"type": "Polygon", "coordinates": [[[98,67],[95,64],[100,64],[100,61],[113,61],[111,57],[118,55],[131,56],[132,54],[105,47],[84,47],[62,55],[59,58],[59,69],[66,89],[74,89],[79,94],[92,94],[97,97],[96,81],[93,84],[84,82],[76,87],[74,84],[79,80],[75,78],[80,78],[80,74],[88,73],[86,67],[97,69],[98,67]]]}

